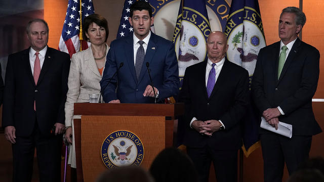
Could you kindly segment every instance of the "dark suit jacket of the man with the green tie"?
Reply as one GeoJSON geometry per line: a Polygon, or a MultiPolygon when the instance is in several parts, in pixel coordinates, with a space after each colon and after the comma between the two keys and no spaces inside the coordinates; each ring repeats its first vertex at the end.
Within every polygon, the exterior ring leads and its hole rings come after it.
{"type": "Polygon", "coordinates": [[[255,104],[261,113],[280,106],[285,115],[279,121],[292,124],[293,135],[317,134],[321,129],[313,114],[312,97],[319,76],[319,52],[297,38],[277,79],[279,51],[280,41],[259,52],[252,80],[255,104]]]}

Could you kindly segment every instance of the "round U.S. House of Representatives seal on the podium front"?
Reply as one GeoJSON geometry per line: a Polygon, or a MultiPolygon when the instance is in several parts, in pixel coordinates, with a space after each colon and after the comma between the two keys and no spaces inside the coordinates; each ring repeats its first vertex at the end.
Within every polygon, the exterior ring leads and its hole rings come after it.
{"type": "Polygon", "coordinates": [[[131,131],[114,131],[105,138],[101,146],[101,159],[109,169],[129,165],[139,166],[143,158],[143,143],[131,131]]]}

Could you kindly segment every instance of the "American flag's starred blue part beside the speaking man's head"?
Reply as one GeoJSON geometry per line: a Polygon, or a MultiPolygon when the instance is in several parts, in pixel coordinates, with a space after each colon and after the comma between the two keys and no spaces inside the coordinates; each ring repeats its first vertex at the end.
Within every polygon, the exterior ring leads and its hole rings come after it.
{"type": "MultiPolygon", "coordinates": [[[[142,1],[142,0],[140,0],[140,1],[142,1]]],[[[147,0],[145,0],[145,1],[148,2],[147,0]]],[[[118,28],[116,38],[124,37],[130,33],[133,33],[133,26],[131,26],[130,22],[128,21],[128,17],[130,17],[131,6],[135,2],[136,2],[136,0],[125,0],[123,13],[121,13],[121,18],[120,18],[120,23],[119,23],[119,28],[118,28]]],[[[154,33],[153,26],[151,26],[151,31],[154,33]]]]}

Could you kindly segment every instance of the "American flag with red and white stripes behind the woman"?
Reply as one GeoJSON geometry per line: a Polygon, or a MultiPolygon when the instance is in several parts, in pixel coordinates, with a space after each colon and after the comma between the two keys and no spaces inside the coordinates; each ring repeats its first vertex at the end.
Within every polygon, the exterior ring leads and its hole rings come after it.
{"type": "MultiPolygon", "coordinates": [[[[81,0],[82,3],[82,21],[89,15],[94,14],[95,10],[92,0],[81,0]]],[[[80,0],[69,0],[66,10],[65,21],[59,42],[59,50],[68,53],[70,57],[80,51],[80,0]]],[[[85,31],[83,29],[83,31],[85,31]]],[[[86,37],[83,37],[86,39],[86,37]]],[[[82,50],[88,49],[85,40],[82,41],[82,50]]]]}

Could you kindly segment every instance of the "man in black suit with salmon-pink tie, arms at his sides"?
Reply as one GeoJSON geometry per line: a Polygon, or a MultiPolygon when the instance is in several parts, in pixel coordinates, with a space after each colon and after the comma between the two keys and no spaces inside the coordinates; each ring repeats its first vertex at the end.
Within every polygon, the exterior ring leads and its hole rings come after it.
{"type": "Polygon", "coordinates": [[[35,148],[39,181],[61,181],[70,57],[47,46],[44,20],[30,21],[26,30],[30,48],[9,55],[5,77],[2,126],[12,143],[13,181],[31,180],[35,148]]]}

